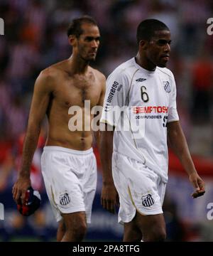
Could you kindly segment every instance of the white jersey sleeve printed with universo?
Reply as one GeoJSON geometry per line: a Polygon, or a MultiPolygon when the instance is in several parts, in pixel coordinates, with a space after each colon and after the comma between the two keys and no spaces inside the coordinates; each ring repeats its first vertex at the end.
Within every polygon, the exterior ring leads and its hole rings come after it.
{"type": "Polygon", "coordinates": [[[128,79],[124,73],[114,71],[109,75],[100,122],[116,127],[122,108],[126,105],[128,87],[128,79]]]}

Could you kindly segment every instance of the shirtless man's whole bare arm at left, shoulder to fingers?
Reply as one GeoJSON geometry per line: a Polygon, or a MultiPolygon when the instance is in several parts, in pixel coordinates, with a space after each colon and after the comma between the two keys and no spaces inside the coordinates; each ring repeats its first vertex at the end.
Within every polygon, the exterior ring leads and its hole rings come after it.
{"type": "Polygon", "coordinates": [[[31,111],[28,118],[28,127],[23,144],[21,169],[18,171],[18,179],[13,186],[13,198],[16,202],[18,202],[20,196],[22,201],[24,200],[26,190],[31,186],[31,162],[38,143],[40,126],[48,107],[50,92],[48,75],[45,72],[40,73],[35,81],[31,111]]]}

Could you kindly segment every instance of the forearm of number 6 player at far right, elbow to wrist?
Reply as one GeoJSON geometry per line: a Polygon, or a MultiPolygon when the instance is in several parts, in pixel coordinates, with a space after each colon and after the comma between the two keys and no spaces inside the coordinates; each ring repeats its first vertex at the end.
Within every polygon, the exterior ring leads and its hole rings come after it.
{"type": "Polygon", "coordinates": [[[190,155],[190,150],[187,146],[187,141],[185,139],[185,135],[182,132],[180,124],[178,124],[175,129],[168,130],[168,139],[170,146],[172,147],[175,154],[180,159],[182,166],[188,175],[196,172],[195,165],[192,161],[192,157],[190,155]]]}

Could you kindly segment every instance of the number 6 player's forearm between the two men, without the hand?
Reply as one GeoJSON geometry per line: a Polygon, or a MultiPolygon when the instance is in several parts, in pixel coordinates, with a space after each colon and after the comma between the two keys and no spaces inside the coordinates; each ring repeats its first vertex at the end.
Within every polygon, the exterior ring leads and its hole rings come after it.
{"type": "Polygon", "coordinates": [[[104,185],[113,183],[111,173],[111,156],[113,152],[113,131],[100,134],[100,155],[102,161],[102,177],[104,185]]]}

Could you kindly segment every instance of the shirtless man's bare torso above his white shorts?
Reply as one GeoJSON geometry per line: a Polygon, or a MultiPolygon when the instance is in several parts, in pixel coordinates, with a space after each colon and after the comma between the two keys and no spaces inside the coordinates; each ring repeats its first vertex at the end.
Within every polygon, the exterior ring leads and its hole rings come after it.
{"type": "MultiPolygon", "coordinates": [[[[102,94],[102,73],[88,67],[86,74],[72,74],[67,68],[67,60],[50,68],[51,87],[48,103],[48,139],[47,146],[63,146],[75,150],[87,150],[92,146],[92,131],[84,131],[84,120],[92,119],[85,111],[84,100],[90,101],[90,109],[98,105],[102,94]],[[82,109],[82,130],[70,131],[68,124],[73,115],[68,114],[72,106],[82,109]]],[[[75,113],[76,114],[76,113],[75,113]]]]}

